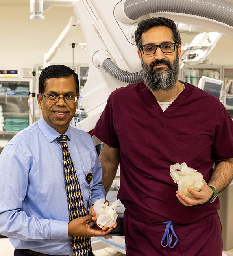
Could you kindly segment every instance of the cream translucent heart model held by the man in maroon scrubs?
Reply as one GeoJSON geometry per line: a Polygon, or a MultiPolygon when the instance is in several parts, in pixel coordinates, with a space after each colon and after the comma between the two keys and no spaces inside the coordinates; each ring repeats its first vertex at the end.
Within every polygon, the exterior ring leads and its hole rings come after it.
{"type": "Polygon", "coordinates": [[[190,198],[193,196],[187,191],[188,188],[198,192],[204,186],[202,174],[188,167],[186,163],[171,165],[170,175],[174,182],[178,184],[178,191],[190,198]]]}

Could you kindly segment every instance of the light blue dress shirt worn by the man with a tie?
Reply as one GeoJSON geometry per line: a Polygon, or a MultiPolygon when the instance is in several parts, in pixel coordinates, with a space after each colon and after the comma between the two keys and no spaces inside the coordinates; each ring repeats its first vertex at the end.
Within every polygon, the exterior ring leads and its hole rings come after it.
{"type": "MultiPolygon", "coordinates": [[[[90,193],[90,206],[106,196],[102,167],[89,134],[74,126],[65,134],[87,209],[90,193]],[[85,180],[90,170],[91,192],[85,180]]],[[[0,234],[15,248],[72,254],[59,135],[41,117],[15,135],[0,155],[0,234]]]]}

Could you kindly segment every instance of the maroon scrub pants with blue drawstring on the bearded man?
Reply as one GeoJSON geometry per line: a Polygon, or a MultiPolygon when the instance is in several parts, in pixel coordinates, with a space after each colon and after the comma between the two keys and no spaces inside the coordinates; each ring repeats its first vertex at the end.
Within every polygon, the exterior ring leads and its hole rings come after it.
{"type": "MultiPolygon", "coordinates": [[[[222,256],[222,226],[217,212],[194,223],[173,223],[178,237],[174,248],[161,245],[165,228],[166,223],[146,223],[125,211],[126,256],[222,256]]],[[[163,245],[166,243],[165,238],[163,245]]]]}

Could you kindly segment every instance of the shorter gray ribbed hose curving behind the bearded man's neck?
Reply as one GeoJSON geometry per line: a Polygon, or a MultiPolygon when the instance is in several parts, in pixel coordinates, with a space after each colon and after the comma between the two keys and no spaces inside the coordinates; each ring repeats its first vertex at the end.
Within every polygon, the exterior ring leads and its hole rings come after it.
{"type": "Polygon", "coordinates": [[[113,77],[117,78],[121,82],[124,83],[137,83],[142,81],[141,71],[135,73],[128,73],[123,71],[122,69],[118,68],[111,59],[107,58],[103,62],[103,67],[109,74],[113,77]]]}

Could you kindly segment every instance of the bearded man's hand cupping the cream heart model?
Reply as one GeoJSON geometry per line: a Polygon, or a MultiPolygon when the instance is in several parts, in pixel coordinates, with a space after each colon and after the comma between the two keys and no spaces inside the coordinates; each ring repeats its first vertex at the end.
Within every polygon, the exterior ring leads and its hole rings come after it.
{"type": "Polygon", "coordinates": [[[185,196],[183,193],[176,191],[176,197],[184,206],[193,206],[197,204],[204,204],[209,201],[209,199],[213,195],[212,189],[207,185],[205,180],[203,180],[204,186],[202,189],[197,192],[193,189],[188,188],[187,191],[193,196],[193,198],[189,198],[185,196]]]}

